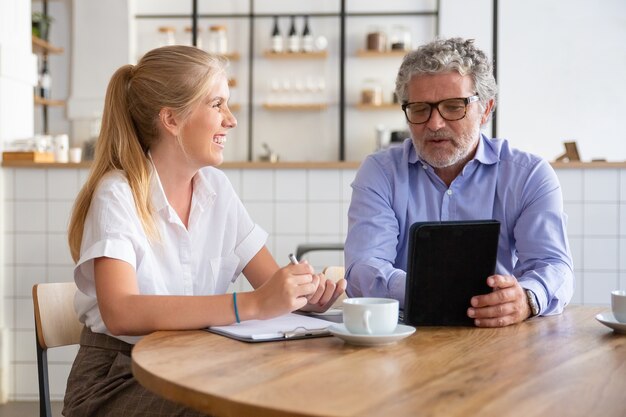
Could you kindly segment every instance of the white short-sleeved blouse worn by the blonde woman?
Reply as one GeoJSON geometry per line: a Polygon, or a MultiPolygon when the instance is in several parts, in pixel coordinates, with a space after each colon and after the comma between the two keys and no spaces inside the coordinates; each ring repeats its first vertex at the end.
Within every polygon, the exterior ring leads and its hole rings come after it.
{"type": "MultiPolygon", "coordinates": [[[[165,197],[153,171],[152,204],[160,239],[150,242],[141,226],[125,174],[114,171],[98,185],[85,220],[74,306],[91,331],[109,334],[96,299],[94,259],[108,257],[135,268],[141,294],[223,294],[267,240],[224,173],[203,168],[193,178],[189,228],[165,197]]],[[[120,336],[136,343],[140,337],[120,336]]]]}

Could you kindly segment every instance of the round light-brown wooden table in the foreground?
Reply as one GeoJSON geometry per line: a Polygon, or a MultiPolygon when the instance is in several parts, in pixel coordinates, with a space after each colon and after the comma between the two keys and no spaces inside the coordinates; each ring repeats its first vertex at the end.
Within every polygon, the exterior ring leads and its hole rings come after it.
{"type": "Polygon", "coordinates": [[[626,335],[569,306],[501,329],[420,327],[395,345],[248,344],[156,332],[133,350],[148,389],[214,416],[626,416],[626,335]]]}

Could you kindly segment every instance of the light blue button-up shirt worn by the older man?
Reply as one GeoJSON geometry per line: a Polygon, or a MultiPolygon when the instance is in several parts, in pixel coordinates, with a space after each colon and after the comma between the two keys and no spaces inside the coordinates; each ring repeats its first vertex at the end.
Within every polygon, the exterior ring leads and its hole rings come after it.
{"type": "Polygon", "coordinates": [[[573,265],[558,178],[548,162],[511,148],[506,140],[481,135],[474,159],[450,187],[419,158],[411,139],[370,155],[352,183],[348,218],[351,297],[395,298],[403,306],[414,222],[496,219],[496,273],[513,275],[530,289],[542,315],[560,313],[572,298],[573,265]]]}

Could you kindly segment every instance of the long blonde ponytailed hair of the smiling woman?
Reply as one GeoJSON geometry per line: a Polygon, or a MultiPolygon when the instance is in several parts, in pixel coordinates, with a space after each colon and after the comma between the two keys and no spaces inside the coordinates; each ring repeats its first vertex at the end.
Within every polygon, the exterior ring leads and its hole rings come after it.
{"type": "Polygon", "coordinates": [[[121,170],[128,180],[141,224],[158,238],[150,202],[151,163],[147,153],[159,140],[159,112],[167,107],[184,125],[225,74],[227,62],[190,46],[165,46],[124,65],[111,77],[104,100],[102,128],[93,165],[80,190],[70,220],[68,241],[75,262],[80,257],[85,219],[102,177],[121,170]]]}

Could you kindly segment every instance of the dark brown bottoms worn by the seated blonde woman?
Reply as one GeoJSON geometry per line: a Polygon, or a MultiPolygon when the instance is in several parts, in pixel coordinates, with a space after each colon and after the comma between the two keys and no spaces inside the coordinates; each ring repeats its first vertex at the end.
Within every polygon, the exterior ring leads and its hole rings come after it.
{"type": "Polygon", "coordinates": [[[142,387],[131,371],[132,345],[85,328],[67,379],[63,415],[205,416],[142,387]]]}

